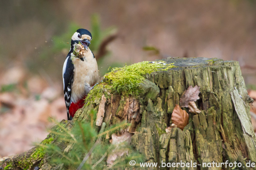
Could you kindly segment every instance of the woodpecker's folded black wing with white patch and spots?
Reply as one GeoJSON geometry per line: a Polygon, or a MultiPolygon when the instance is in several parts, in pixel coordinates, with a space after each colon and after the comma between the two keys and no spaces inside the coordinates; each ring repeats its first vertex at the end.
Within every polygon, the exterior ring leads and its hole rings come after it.
{"type": "Polygon", "coordinates": [[[72,63],[70,54],[67,56],[65,63],[63,65],[62,74],[63,74],[63,88],[64,88],[65,104],[67,108],[67,116],[68,116],[68,120],[70,120],[69,106],[70,106],[71,88],[72,88],[73,76],[74,76],[74,64],[72,63]]]}

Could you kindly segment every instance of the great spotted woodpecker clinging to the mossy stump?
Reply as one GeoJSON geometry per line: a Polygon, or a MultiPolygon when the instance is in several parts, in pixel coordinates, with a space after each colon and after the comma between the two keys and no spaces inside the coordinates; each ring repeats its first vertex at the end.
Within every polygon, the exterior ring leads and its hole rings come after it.
{"type": "Polygon", "coordinates": [[[70,51],[62,69],[68,120],[72,120],[76,111],[84,105],[85,97],[99,80],[97,61],[89,49],[91,33],[78,29],[71,39],[70,51]],[[78,44],[83,47],[80,55],[76,54],[78,44]]]}

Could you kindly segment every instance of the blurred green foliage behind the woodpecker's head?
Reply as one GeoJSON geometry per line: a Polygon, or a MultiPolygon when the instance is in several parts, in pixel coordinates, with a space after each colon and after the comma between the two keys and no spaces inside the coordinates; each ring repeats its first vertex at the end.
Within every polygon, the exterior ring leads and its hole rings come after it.
{"type": "MultiPolygon", "coordinates": [[[[63,27],[63,26],[62,26],[63,27]]],[[[63,57],[63,62],[65,60],[65,57],[70,49],[70,42],[71,42],[71,36],[74,34],[74,32],[79,29],[83,28],[81,25],[78,25],[76,23],[70,22],[67,24],[67,26],[63,27],[64,29],[61,31],[56,32],[55,36],[51,38],[51,41],[48,41],[45,43],[45,46],[38,47],[38,59],[37,60],[27,60],[26,64],[27,67],[35,72],[34,69],[37,67],[37,71],[43,68],[49,75],[52,75],[52,70],[58,70],[59,67],[62,67],[63,63],[61,65],[56,65],[56,62],[61,62],[61,58],[63,57]]],[[[90,44],[90,49],[93,51],[95,55],[97,55],[100,44],[102,41],[108,37],[109,35],[112,35],[115,32],[114,27],[109,27],[107,29],[101,29],[100,27],[100,19],[97,14],[94,14],[91,16],[91,28],[88,26],[87,28],[92,33],[92,41],[90,44]]],[[[109,54],[106,54],[105,56],[102,56],[101,60],[97,59],[98,66],[101,65],[103,61],[103,58],[106,57],[109,54]]],[[[102,64],[107,65],[105,62],[102,64]]],[[[103,75],[105,73],[106,68],[99,67],[101,74],[103,75]]],[[[59,72],[61,73],[61,72],[59,72]]],[[[59,73],[56,73],[52,76],[59,77],[59,73]]]]}

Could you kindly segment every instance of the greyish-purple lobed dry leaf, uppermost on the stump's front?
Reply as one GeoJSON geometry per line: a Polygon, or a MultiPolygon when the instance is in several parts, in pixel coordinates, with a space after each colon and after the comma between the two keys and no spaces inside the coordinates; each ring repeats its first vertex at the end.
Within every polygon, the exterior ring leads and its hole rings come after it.
{"type": "Polygon", "coordinates": [[[200,93],[200,86],[195,85],[195,87],[189,86],[188,89],[183,93],[179,100],[181,107],[188,107],[188,102],[196,101],[200,99],[198,96],[200,93]]]}

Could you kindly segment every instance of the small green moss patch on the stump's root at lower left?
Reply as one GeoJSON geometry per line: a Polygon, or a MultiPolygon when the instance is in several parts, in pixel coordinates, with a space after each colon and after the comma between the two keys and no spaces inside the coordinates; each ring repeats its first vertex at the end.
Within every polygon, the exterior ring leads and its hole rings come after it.
{"type": "MultiPolygon", "coordinates": [[[[54,140],[53,137],[47,138],[41,142],[42,145],[49,145],[54,140]]],[[[25,156],[19,160],[18,166],[23,169],[29,169],[33,164],[34,160],[42,159],[45,155],[45,148],[39,146],[36,148],[35,152],[33,152],[29,157],[27,157],[26,152],[25,156]]]]}

